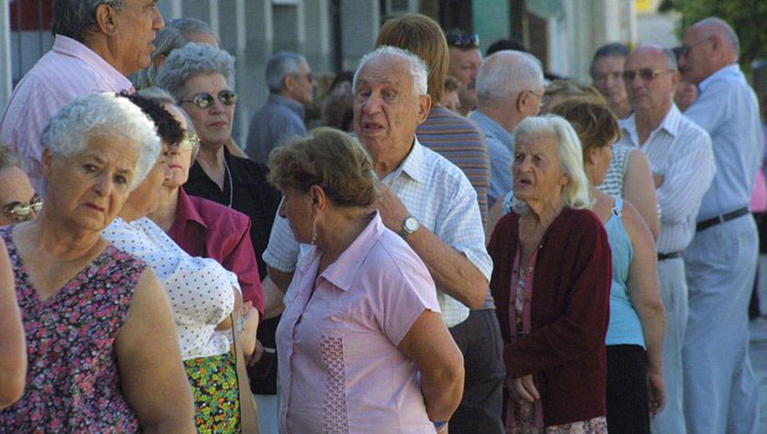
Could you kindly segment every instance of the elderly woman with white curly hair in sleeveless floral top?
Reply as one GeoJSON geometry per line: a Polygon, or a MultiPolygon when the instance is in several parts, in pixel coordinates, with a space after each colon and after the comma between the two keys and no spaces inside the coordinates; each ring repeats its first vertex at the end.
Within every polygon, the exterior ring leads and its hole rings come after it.
{"type": "Polygon", "coordinates": [[[28,348],[25,393],[0,431],[195,432],[163,287],[101,237],[160,154],[153,123],[97,93],[64,106],[42,141],[40,214],[0,230],[28,348]]]}

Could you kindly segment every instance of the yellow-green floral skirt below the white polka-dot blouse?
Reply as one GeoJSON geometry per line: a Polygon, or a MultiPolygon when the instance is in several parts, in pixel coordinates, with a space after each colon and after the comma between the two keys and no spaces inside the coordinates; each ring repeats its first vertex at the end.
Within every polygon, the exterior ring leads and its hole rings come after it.
{"type": "Polygon", "coordinates": [[[232,354],[184,361],[192,384],[195,424],[200,434],[240,432],[237,365],[232,354]]]}

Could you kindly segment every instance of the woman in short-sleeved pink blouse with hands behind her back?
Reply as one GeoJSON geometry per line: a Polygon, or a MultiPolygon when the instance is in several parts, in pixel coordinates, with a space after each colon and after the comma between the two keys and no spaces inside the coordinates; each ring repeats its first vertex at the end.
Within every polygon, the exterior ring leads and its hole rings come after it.
{"type": "Polygon", "coordinates": [[[370,157],[315,129],[272,152],[298,260],[277,329],[280,432],[444,432],[463,357],[429,270],[371,210],[370,157]]]}

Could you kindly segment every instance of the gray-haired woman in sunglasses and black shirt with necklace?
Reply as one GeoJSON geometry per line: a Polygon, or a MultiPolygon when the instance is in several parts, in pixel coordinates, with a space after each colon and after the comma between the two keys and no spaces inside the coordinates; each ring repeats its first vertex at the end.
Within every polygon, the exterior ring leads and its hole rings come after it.
{"type": "Polygon", "coordinates": [[[280,194],[266,179],[268,168],[229,153],[235,103],[235,60],[224,50],[187,44],[174,50],[157,73],[156,84],[189,113],[199,137],[199,153],[189,168],[186,193],[204,197],[250,217],[250,237],[259,276],[280,194]]]}

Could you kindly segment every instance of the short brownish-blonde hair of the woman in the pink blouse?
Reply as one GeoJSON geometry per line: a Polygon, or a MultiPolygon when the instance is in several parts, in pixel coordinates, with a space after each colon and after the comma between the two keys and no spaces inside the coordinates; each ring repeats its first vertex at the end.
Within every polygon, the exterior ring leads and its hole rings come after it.
{"type": "Polygon", "coordinates": [[[277,188],[307,192],[319,185],[338,206],[368,207],[378,198],[373,161],[347,132],[321,127],[275,148],[269,181],[277,188]]]}

